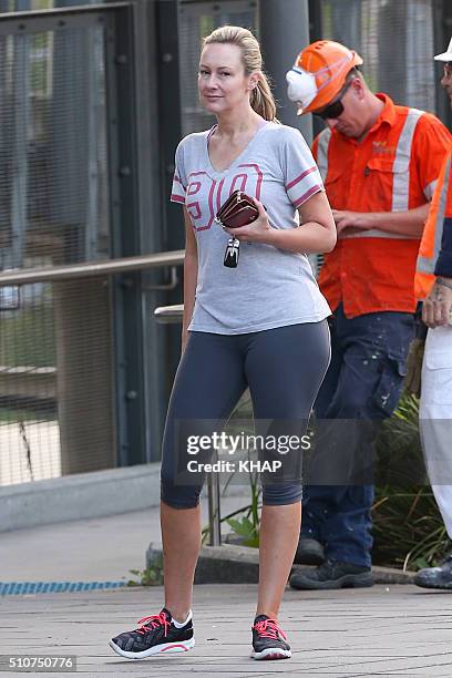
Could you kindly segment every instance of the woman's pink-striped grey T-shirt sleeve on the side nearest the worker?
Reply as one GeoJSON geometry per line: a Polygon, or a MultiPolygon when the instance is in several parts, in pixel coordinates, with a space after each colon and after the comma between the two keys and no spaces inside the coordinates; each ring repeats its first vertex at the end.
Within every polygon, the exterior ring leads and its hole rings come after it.
{"type": "Polygon", "coordinates": [[[308,144],[298,130],[288,129],[282,162],[287,195],[299,207],[315,193],[323,191],[323,183],[308,144]]]}

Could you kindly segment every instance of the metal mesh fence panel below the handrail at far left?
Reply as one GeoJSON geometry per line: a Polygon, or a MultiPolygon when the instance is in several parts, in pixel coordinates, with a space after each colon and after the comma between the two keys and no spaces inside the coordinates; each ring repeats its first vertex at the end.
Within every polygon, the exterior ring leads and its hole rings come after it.
{"type": "Polygon", "coordinates": [[[115,465],[107,279],[27,285],[0,317],[0,485],[115,465]]]}

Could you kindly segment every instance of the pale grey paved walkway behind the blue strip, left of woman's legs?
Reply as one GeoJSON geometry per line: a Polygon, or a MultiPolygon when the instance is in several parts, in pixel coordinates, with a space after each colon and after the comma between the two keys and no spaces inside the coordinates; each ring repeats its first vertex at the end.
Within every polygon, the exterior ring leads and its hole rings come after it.
{"type": "MultiPolygon", "coordinates": [[[[223,515],[247,504],[222,500],[223,515]]],[[[208,523],[203,499],[203,525],[208,523]]],[[[92,582],[130,578],[161,542],[158,508],[0,533],[0,582],[92,582]]]]}

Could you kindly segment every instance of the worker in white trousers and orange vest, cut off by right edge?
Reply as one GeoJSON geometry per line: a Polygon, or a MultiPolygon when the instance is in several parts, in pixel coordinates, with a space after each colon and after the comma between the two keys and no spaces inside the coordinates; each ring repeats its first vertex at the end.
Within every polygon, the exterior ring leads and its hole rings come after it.
{"type": "MultiPolygon", "coordinates": [[[[452,40],[441,84],[452,106],[452,40]]],[[[452,146],[445,157],[422,236],[415,295],[430,328],[422,364],[420,431],[425,465],[449,537],[452,540],[452,146]]],[[[452,552],[438,567],[417,573],[424,588],[452,589],[452,552]]]]}

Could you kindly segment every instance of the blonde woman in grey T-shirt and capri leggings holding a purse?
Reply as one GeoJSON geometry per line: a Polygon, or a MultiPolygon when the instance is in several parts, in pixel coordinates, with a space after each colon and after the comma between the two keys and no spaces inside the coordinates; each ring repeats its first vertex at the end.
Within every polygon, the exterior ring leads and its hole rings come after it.
{"type": "MultiPolygon", "coordinates": [[[[195,645],[192,594],[204,477],[187,484],[176,480],[188,461],[176,445],[177,423],[202,420],[214,429],[247,387],[256,420],[306,421],[330,358],[330,310],[306,255],[332,249],[335,223],[301,134],[276,120],[259,44],[248,30],[226,25],[204,40],[198,89],[217,122],[186,136],[176,151],[172,199],[183,206],[186,254],[183,356],[162,461],[165,607],[111,640],[127,658],[195,645]],[[234,229],[240,260],[226,268],[233,232],[225,233],[215,214],[235,189],[251,196],[259,214],[234,229]]],[[[290,657],[278,613],[300,517],[300,479],[263,479],[255,659],[290,657]]]]}

